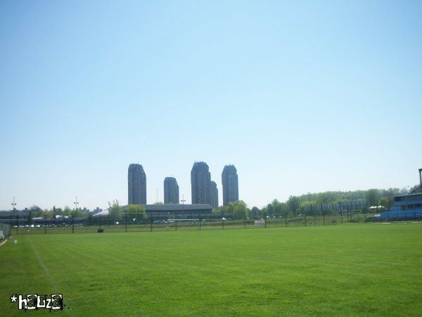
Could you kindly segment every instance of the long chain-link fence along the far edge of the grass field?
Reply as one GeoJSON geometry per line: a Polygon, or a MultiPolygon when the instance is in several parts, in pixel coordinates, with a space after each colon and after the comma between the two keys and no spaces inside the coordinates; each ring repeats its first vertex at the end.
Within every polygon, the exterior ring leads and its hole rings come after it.
{"type": "MultiPolygon", "coordinates": [[[[265,216],[264,219],[231,219],[225,214],[203,216],[188,214],[182,218],[167,214],[120,214],[115,216],[87,215],[84,217],[61,216],[58,218],[9,216],[0,219],[8,234],[46,233],[97,233],[134,231],[226,230],[241,228],[275,228],[298,226],[333,226],[347,223],[368,222],[372,214],[336,212],[307,216],[265,216]]],[[[6,234],[5,234],[6,235],[6,234]]]]}

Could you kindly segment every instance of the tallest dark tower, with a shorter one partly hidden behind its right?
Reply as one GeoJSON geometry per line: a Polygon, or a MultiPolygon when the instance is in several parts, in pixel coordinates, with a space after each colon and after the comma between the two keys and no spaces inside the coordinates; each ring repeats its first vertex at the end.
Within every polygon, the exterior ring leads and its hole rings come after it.
{"type": "Polygon", "coordinates": [[[211,174],[205,162],[195,162],[191,170],[192,204],[211,205],[211,174]]]}

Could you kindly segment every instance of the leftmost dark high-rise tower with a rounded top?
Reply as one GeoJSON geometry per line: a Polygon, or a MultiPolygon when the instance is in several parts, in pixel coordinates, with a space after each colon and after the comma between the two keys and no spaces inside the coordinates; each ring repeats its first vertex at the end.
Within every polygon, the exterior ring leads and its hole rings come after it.
{"type": "Polygon", "coordinates": [[[141,164],[130,164],[127,169],[128,205],[146,205],[146,175],[141,164]]]}

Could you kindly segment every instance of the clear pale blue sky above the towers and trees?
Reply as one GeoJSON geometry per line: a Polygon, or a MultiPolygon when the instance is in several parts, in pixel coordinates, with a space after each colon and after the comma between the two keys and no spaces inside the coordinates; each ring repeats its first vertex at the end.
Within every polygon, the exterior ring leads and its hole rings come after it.
{"type": "Polygon", "coordinates": [[[421,1],[1,1],[0,209],[127,204],[203,160],[252,207],[414,186],[421,1]]]}

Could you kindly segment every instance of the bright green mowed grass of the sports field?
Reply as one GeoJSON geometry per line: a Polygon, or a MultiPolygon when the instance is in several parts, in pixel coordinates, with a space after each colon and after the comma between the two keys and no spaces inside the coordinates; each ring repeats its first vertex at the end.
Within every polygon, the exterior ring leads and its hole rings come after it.
{"type": "Polygon", "coordinates": [[[422,224],[18,235],[0,315],[62,293],[69,316],[420,316],[421,264],[422,224]]]}

